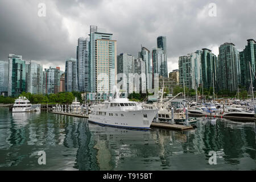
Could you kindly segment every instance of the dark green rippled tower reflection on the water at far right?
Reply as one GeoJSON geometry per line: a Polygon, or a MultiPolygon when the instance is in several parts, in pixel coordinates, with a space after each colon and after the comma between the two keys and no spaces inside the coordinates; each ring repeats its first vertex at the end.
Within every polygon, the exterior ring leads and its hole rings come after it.
{"type": "Polygon", "coordinates": [[[238,159],[242,158],[244,153],[251,154],[251,151],[246,151],[245,147],[251,141],[248,139],[250,132],[246,131],[248,123],[221,118],[216,119],[214,125],[211,119],[209,123],[210,125],[205,123],[197,128],[197,132],[201,132],[199,136],[203,136],[203,150],[207,158],[209,151],[216,151],[218,158],[223,158],[230,164],[239,164],[238,159]]]}

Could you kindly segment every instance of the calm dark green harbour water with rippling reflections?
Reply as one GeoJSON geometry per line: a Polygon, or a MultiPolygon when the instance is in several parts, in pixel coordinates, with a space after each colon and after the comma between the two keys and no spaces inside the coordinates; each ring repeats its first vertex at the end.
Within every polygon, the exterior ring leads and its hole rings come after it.
{"type": "Polygon", "coordinates": [[[198,118],[188,131],[126,130],[0,108],[0,170],[256,170],[255,130],[254,122],[214,118],[198,118]]]}

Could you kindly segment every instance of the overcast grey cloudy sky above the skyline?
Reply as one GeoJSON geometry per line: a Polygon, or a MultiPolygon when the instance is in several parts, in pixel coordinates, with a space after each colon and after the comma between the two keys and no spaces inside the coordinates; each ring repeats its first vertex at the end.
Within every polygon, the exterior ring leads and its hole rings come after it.
{"type": "MultiPolygon", "coordinates": [[[[238,50],[256,39],[255,0],[243,1],[95,1],[0,0],[0,60],[9,53],[24,60],[60,66],[76,58],[77,39],[88,37],[89,26],[113,33],[117,53],[138,56],[141,45],[152,51],[156,38],[167,38],[168,71],[178,68],[178,57],[233,42],[238,50]],[[39,16],[39,3],[46,16],[39,16]],[[216,16],[210,3],[216,4],[216,16]]],[[[42,11],[40,11],[42,13],[42,11]]]]}

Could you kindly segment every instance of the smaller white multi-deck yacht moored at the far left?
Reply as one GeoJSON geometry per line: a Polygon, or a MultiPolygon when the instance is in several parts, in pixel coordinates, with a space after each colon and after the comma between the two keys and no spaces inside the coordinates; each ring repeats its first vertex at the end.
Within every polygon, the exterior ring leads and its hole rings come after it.
{"type": "Polygon", "coordinates": [[[13,113],[30,111],[34,111],[34,109],[31,109],[31,103],[26,97],[19,97],[15,100],[13,105],[13,113]]]}

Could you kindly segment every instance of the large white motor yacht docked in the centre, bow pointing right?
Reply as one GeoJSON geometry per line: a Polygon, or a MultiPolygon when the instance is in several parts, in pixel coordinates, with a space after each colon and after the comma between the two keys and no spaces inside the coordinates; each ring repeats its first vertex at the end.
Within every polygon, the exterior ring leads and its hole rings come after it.
{"type": "Polygon", "coordinates": [[[150,129],[150,125],[158,109],[144,109],[142,104],[129,101],[127,98],[119,98],[118,92],[115,98],[94,105],[89,121],[101,125],[125,127],[130,129],[150,129]]]}

